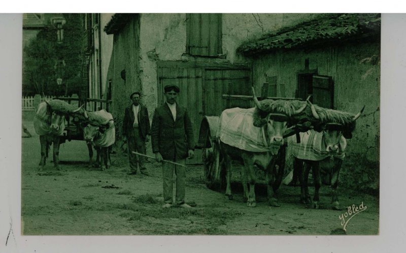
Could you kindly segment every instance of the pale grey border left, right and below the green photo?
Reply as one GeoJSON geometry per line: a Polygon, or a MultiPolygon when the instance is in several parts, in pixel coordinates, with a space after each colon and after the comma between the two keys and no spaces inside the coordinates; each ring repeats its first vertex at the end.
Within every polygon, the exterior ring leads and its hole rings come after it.
{"type": "MultiPolygon", "coordinates": [[[[248,12],[248,11],[244,11],[248,12]]],[[[397,252],[406,248],[406,14],[382,15],[379,236],[21,236],[21,14],[0,14],[0,252],[397,252]],[[10,217],[14,236],[8,241],[10,217]]]]}

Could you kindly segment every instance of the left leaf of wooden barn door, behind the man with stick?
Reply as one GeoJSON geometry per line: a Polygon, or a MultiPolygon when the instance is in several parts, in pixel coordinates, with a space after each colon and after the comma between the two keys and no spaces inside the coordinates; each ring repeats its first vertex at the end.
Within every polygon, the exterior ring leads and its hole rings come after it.
{"type": "MultiPolygon", "coordinates": [[[[195,143],[199,133],[200,122],[203,115],[202,110],[202,69],[183,68],[174,64],[173,66],[158,67],[158,100],[159,105],[165,102],[163,87],[166,85],[177,85],[180,88],[177,102],[187,108],[192,121],[195,143]]],[[[193,159],[186,159],[187,164],[201,163],[201,150],[196,149],[193,159]]]]}

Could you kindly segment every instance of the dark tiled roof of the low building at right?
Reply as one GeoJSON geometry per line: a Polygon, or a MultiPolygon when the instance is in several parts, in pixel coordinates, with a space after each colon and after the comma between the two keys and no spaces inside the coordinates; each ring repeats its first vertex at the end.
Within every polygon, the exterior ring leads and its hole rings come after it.
{"type": "Polygon", "coordinates": [[[312,44],[365,38],[381,33],[381,14],[327,14],[317,19],[283,28],[259,40],[241,45],[237,52],[246,56],[292,49],[312,44]]]}

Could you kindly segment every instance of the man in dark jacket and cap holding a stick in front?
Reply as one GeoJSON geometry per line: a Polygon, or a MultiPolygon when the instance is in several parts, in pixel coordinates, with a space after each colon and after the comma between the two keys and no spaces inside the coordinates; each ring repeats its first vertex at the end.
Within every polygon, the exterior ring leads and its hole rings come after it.
{"type": "MultiPolygon", "coordinates": [[[[179,87],[166,85],[164,87],[166,102],[155,109],[152,119],[151,138],[152,151],[156,160],[186,164],[186,157],[193,157],[194,137],[192,122],[185,107],[176,103],[179,87]]],[[[172,177],[176,173],[176,203],[181,207],[189,208],[185,203],[186,166],[162,163],[163,176],[163,208],[172,206],[172,177]]]]}

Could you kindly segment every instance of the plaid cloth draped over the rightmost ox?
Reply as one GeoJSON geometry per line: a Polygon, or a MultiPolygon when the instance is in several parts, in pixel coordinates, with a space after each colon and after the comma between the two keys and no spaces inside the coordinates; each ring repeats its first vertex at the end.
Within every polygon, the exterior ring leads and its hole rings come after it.
{"type": "MultiPolygon", "coordinates": [[[[303,160],[321,161],[330,157],[326,151],[326,146],[323,141],[323,133],[310,130],[306,133],[300,133],[300,143],[296,142],[296,136],[291,136],[292,154],[294,157],[303,160]]],[[[345,148],[347,146],[346,139],[342,136],[339,145],[339,152],[332,155],[335,158],[344,159],[345,148]]]]}

